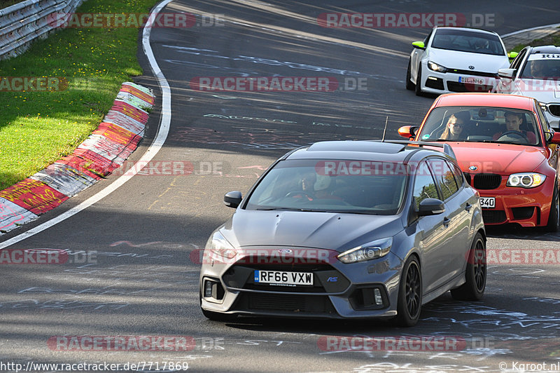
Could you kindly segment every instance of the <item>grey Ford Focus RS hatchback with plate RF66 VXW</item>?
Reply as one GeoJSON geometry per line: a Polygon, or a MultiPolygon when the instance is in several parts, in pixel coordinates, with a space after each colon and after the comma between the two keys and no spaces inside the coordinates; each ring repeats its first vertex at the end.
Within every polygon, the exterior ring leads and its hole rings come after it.
{"type": "Polygon", "coordinates": [[[448,144],[317,142],[288,152],[211,234],[200,272],[202,313],[393,318],[451,290],[486,285],[479,196],[448,144]]]}

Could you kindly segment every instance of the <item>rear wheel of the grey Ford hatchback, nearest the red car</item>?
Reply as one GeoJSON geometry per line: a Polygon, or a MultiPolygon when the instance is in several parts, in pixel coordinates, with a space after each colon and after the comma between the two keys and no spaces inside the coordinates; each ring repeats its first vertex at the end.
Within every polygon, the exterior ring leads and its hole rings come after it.
{"type": "Polygon", "coordinates": [[[468,251],[466,282],[451,290],[451,297],[458,301],[479,301],[486,287],[486,242],[477,233],[468,251]]]}

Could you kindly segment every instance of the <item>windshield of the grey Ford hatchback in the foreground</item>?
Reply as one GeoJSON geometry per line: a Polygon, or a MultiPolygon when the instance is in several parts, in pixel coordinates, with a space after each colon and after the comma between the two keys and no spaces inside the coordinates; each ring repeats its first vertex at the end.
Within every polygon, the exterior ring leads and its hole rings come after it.
{"type": "Polygon", "coordinates": [[[405,198],[408,174],[402,163],[280,161],[256,186],[245,208],[395,215],[405,198]]]}

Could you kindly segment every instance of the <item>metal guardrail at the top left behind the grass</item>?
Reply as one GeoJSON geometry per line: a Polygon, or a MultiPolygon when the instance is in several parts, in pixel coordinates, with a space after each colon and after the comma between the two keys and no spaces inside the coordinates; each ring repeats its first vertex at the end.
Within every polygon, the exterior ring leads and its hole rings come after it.
{"type": "Polygon", "coordinates": [[[38,38],[59,28],[57,15],[69,15],[83,0],[26,0],[0,9],[0,60],[25,52],[38,38]]]}

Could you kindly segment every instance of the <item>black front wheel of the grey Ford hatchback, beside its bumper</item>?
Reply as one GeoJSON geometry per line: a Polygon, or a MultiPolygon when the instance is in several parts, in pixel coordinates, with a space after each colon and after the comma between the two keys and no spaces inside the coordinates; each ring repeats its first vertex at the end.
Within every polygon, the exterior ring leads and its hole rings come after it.
{"type": "Polygon", "coordinates": [[[418,323],[422,308],[422,273],[414,255],[402,267],[398,287],[396,325],[412,327],[418,323]]]}

